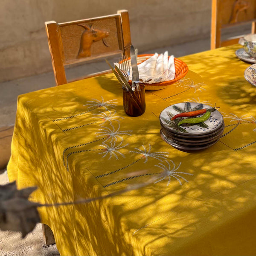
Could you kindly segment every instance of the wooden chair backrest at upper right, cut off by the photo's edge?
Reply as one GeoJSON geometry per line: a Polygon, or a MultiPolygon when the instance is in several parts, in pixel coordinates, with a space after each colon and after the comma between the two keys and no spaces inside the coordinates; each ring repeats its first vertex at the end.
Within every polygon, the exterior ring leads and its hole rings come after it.
{"type": "Polygon", "coordinates": [[[211,49],[237,44],[244,35],[221,41],[221,30],[251,23],[256,33],[256,0],[212,0],[211,49]]]}

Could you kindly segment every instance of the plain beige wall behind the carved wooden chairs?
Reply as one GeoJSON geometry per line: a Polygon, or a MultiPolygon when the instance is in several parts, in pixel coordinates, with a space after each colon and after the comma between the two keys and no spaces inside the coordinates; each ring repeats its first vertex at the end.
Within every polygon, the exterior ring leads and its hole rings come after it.
{"type": "Polygon", "coordinates": [[[211,0],[1,0],[0,81],[52,70],[45,21],[118,9],[129,11],[131,39],[139,52],[209,37],[211,0]]]}

